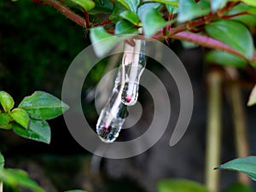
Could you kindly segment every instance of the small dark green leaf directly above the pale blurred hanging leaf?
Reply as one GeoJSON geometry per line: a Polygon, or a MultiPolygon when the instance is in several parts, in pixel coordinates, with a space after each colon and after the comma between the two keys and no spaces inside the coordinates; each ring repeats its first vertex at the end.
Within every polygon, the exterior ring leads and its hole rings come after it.
{"type": "Polygon", "coordinates": [[[116,35],[120,34],[137,34],[138,30],[129,21],[119,20],[114,29],[116,35]]]}

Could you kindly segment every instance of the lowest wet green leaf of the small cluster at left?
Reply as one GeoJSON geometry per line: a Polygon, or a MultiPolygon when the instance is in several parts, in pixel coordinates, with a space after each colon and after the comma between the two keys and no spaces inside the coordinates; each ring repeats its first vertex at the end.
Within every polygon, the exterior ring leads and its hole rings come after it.
{"type": "Polygon", "coordinates": [[[13,130],[21,137],[26,137],[38,142],[50,143],[50,128],[45,120],[31,119],[28,129],[19,124],[13,124],[13,130]]]}

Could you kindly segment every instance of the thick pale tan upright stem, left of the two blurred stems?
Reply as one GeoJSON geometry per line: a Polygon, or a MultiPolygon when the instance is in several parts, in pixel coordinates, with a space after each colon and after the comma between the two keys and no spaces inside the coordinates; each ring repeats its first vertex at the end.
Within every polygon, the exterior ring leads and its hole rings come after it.
{"type": "Polygon", "coordinates": [[[221,138],[221,87],[222,75],[212,71],[207,76],[207,148],[206,148],[206,185],[211,192],[218,192],[219,172],[213,170],[220,163],[221,138]]]}

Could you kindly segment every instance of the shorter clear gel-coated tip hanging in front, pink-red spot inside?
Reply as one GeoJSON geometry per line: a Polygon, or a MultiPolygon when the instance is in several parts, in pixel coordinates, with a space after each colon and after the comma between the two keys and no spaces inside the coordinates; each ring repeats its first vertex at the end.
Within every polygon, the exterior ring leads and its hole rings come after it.
{"type": "Polygon", "coordinates": [[[125,44],[122,67],[125,68],[125,86],[122,102],[127,106],[137,102],[139,81],[146,66],[145,41],[133,39],[135,45],[125,44]]]}

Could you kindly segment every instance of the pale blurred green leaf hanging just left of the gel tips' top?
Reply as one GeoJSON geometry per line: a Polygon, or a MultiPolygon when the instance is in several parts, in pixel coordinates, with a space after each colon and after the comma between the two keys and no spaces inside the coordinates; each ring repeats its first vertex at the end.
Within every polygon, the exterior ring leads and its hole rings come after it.
{"type": "Polygon", "coordinates": [[[125,35],[113,36],[109,34],[102,26],[97,26],[90,29],[90,41],[96,55],[99,57],[106,55],[116,44],[125,38],[127,38],[125,35]]]}

